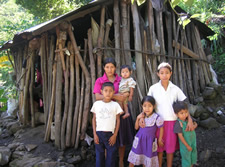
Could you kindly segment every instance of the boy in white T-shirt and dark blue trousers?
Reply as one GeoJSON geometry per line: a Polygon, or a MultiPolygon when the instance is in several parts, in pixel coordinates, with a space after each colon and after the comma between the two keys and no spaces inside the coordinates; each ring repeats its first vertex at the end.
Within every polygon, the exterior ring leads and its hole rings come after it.
{"type": "Polygon", "coordinates": [[[102,85],[101,94],[104,97],[103,100],[96,101],[91,108],[96,167],[114,167],[116,162],[115,143],[120,126],[120,113],[123,110],[117,102],[112,101],[113,83],[105,82],[102,85]]]}

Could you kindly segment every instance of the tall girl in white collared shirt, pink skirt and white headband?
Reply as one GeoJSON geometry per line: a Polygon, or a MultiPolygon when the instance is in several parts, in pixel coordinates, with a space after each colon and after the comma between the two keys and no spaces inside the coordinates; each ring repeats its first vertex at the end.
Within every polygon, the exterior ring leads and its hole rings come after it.
{"type": "MultiPolygon", "coordinates": [[[[161,63],[158,66],[157,75],[160,81],[150,87],[148,96],[153,96],[155,98],[156,113],[164,120],[163,147],[159,147],[157,150],[159,166],[162,166],[163,151],[166,151],[167,167],[172,167],[173,153],[175,150],[179,149],[177,134],[173,132],[177,117],[173,111],[172,105],[175,101],[184,101],[186,96],[179,87],[170,81],[172,67],[169,63],[161,63]]],[[[189,118],[188,130],[193,130],[191,118],[189,118]]]]}

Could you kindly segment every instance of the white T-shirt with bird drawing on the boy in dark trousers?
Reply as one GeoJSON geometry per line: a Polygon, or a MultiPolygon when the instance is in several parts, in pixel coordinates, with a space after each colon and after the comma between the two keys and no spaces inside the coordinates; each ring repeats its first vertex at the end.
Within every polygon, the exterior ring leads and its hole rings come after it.
{"type": "Polygon", "coordinates": [[[91,112],[96,114],[96,131],[111,131],[114,133],[116,115],[123,110],[117,102],[105,103],[99,100],[93,104],[91,112]]]}

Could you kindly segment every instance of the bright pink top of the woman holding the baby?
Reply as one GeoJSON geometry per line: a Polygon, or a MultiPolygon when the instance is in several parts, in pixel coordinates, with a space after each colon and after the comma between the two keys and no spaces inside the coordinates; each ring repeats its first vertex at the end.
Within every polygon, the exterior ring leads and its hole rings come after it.
{"type": "MultiPolygon", "coordinates": [[[[115,88],[115,93],[118,93],[119,91],[119,84],[120,84],[120,80],[121,77],[119,77],[117,74],[115,75],[115,80],[113,82],[114,88],[115,88]]],[[[104,73],[104,75],[102,77],[99,77],[96,81],[95,81],[95,86],[94,86],[94,90],[93,93],[99,93],[101,94],[101,88],[102,88],[102,84],[105,82],[110,82],[107,78],[106,73],[104,73]]]]}

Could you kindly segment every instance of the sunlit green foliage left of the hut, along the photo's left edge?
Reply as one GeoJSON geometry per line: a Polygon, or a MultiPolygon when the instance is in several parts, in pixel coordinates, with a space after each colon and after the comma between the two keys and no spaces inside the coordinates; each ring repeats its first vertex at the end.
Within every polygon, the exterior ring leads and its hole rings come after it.
{"type": "MultiPolygon", "coordinates": [[[[34,18],[14,0],[0,0],[0,45],[12,40],[13,36],[30,28],[40,20],[34,18]]],[[[11,55],[9,55],[11,56],[11,55]]],[[[12,57],[11,60],[13,61],[12,57]]],[[[7,108],[7,99],[16,97],[15,81],[12,79],[13,68],[8,60],[7,51],[0,51],[0,105],[1,111],[7,108]]]]}

